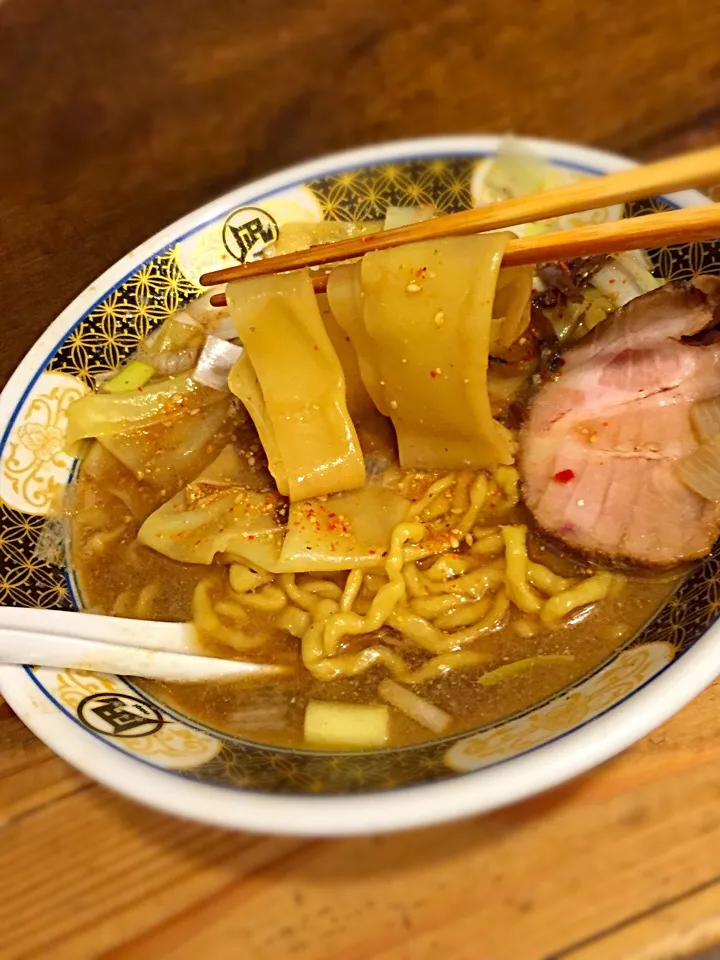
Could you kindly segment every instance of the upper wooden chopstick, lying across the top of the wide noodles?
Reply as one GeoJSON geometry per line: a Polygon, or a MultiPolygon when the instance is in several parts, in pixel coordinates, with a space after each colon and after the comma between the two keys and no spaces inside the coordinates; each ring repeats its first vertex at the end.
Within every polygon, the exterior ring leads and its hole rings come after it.
{"type": "MultiPolygon", "coordinates": [[[[659,193],[668,193],[673,190],[679,190],[689,186],[703,186],[720,181],[720,147],[711,147],[707,150],[699,150],[693,153],[681,154],[677,157],[671,157],[668,160],[660,160],[657,163],[646,164],[645,166],[633,167],[630,170],[622,170],[620,173],[611,173],[604,177],[593,177],[572,183],[563,187],[555,187],[552,190],[545,190],[542,193],[530,194],[525,197],[516,197],[511,200],[504,200],[501,203],[493,203],[486,207],[478,207],[474,210],[463,210],[460,213],[446,214],[437,217],[434,220],[426,220],[422,223],[415,223],[407,227],[397,227],[394,230],[384,230],[378,233],[368,234],[363,237],[353,237],[349,240],[341,240],[337,243],[319,244],[310,247],[308,250],[299,250],[295,253],[284,254],[279,257],[268,258],[267,260],[256,260],[252,263],[239,264],[236,267],[226,267],[223,270],[215,270],[211,273],[203,274],[200,277],[200,283],[204,286],[213,286],[217,283],[227,283],[231,280],[238,280],[246,277],[256,277],[273,273],[282,273],[287,270],[298,270],[302,267],[315,267],[326,263],[337,263],[340,260],[351,260],[355,257],[362,257],[371,250],[386,250],[390,247],[397,247],[403,243],[413,243],[418,240],[433,240],[438,237],[463,236],[468,233],[480,233],[483,230],[497,230],[502,227],[512,227],[518,223],[528,223],[535,220],[544,220],[548,217],[563,216],[568,213],[578,213],[583,210],[592,210],[595,207],[608,206],[614,203],[622,203],[627,200],[636,200],[642,197],[651,197],[659,193]]],[[[677,211],[680,217],[690,214],[690,210],[684,209],[677,211]]],[[[666,216],[666,214],[657,214],[656,216],[666,216]]],[[[645,220],[652,220],[649,216],[645,220]]],[[[629,221],[617,221],[609,224],[598,224],[594,229],[608,228],[617,230],[619,235],[627,229],[624,225],[632,223],[629,221]]],[[[658,221],[659,222],[659,221],[658,221]]],[[[674,221],[671,221],[673,223],[674,221]]],[[[702,221],[703,225],[711,230],[709,220],[702,221]]],[[[700,224],[698,223],[698,228],[700,224]]],[[[593,228],[581,227],[578,231],[564,231],[566,236],[575,234],[580,238],[580,242],[589,242],[590,237],[582,234],[593,228]]],[[[673,243],[691,239],[707,239],[712,233],[703,233],[702,235],[692,235],[691,233],[679,233],[678,228],[662,225],[658,227],[660,233],[652,237],[647,235],[648,243],[673,243]],[[662,234],[662,230],[667,229],[672,233],[672,239],[667,234],[662,234]]],[[[720,231],[718,231],[720,233],[720,231]]],[[[560,233],[553,235],[555,239],[561,236],[560,233]]],[[[605,236],[601,233],[601,236],[605,236]]],[[[642,240],[639,235],[638,239],[642,240]]],[[[508,260],[508,265],[512,263],[534,263],[538,260],[552,259],[555,254],[549,252],[552,247],[546,247],[541,241],[546,241],[547,236],[533,237],[522,241],[526,245],[511,250],[508,246],[508,257],[517,255],[527,259],[508,260]],[[536,256],[531,251],[534,248],[543,248],[548,252],[543,252],[536,256]]],[[[575,243],[571,239],[570,243],[575,243]]],[[[634,242],[634,241],[633,241],[634,242]]],[[[521,241],[513,241],[513,244],[521,241]]],[[[585,252],[612,252],[612,250],[632,249],[630,247],[613,246],[612,239],[608,238],[610,246],[603,246],[599,249],[595,246],[587,249],[572,248],[571,252],[563,253],[563,256],[579,256],[585,252]]],[[[637,243],[636,246],[641,246],[637,243]]],[[[559,254],[558,254],[559,255],[559,254]]]]}

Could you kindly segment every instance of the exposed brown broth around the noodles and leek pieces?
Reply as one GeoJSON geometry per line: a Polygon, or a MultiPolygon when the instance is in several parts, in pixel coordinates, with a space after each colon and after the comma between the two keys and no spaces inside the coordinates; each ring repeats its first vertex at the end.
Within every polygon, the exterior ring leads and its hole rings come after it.
{"type": "MultiPolygon", "coordinates": [[[[222,565],[177,563],[139,545],[135,536],[144,516],[159,499],[114,458],[97,453],[93,471],[83,469],[71,501],[72,561],[86,609],[120,616],[136,616],[134,604],[145,591],[150,619],[191,619],[195,585],[208,572],[224,578],[222,565]]],[[[517,519],[527,519],[517,516],[517,519]]],[[[534,559],[561,574],[580,573],[584,566],[534,541],[534,559]]],[[[454,717],[448,733],[458,733],[496,722],[544,701],[558,690],[590,673],[625,644],[662,605],[682,573],[630,576],[616,597],[608,598],[574,621],[533,637],[519,636],[512,622],[476,644],[489,651],[492,669],[536,654],[570,653],[567,664],[536,666],[492,687],[477,683],[478,671],[457,671],[414,688],[454,717]]],[[[262,626],[261,618],[246,629],[262,626]]],[[[263,648],[257,659],[297,661],[300,641],[283,635],[263,648]]],[[[404,655],[406,650],[403,651],[404,655]]],[[[412,655],[408,657],[413,662],[412,655]]],[[[415,658],[416,663],[422,657],[415,658]]],[[[352,703],[378,702],[382,670],[353,678],[319,681],[300,668],[287,679],[271,684],[166,684],[145,681],[143,686],[168,705],[214,728],[255,741],[283,746],[303,744],[303,716],[311,698],[352,703]],[[270,719],[268,719],[270,718],[270,719]]],[[[431,734],[392,710],[391,746],[418,743],[431,734]]]]}

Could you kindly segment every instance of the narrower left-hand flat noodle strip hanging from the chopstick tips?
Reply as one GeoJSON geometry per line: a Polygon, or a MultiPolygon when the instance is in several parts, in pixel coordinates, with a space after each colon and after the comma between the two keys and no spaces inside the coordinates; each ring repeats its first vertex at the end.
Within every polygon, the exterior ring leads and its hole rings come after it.
{"type": "MultiPolygon", "coordinates": [[[[361,487],[365,466],[345,378],[308,271],[236,281],[228,285],[227,298],[257,377],[261,419],[272,428],[290,499],[361,487]]],[[[231,376],[231,389],[234,383],[231,376]]]]}

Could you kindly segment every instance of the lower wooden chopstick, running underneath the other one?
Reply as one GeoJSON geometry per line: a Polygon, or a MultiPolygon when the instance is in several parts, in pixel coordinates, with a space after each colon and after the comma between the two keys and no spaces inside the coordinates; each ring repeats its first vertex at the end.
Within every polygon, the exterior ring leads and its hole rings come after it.
{"type": "MultiPolygon", "coordinates": [[[[569,260],[572,257],[616,253],[621,250],[658,247],[670,243],[714,240],[716,237],[720,237],[720,204],[712,203],[705,207],[685,207],[682,210],[629,217],[626,220],[615,220],[611,223],[588,224],[572,230],[558,230],[556,233],[521,237],[508,243],[502,263],[504,267],[519,267],[545,260],[569,260]]],[[[328,246],[337,246],[337,244],[328,244],[328,246]]],[[[285,258],[275,257],[272,260],[259,262],[276,264],[281,259],[285,258]]],[[[255,265],[250,264],[250,266],[255,265]]],[[[272,271],[272,273],[276,272],[276,270],[272,271]]],[[[245,277],[246,274],[243,272],[240,276],[245,277]]],[[[313,287],[316,293],[325,290],[327,274],[313,277],[313,287]]],[[[216,293],[210,298],[210,302],[215,307],[224,307],[227,300],[224,293],[216,293]]]]}

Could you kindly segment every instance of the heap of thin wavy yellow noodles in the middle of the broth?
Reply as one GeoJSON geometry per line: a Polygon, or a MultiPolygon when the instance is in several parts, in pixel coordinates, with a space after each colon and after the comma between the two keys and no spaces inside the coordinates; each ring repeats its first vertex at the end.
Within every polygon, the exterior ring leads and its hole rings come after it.
{"type": "MultiPolygon", "coordinates": [[[[517,501],[517,480],[514,468],[495,471],[495,481],[510,507],[517,501]]],[[[578,583],[530,560],[524,525],[475,526],[487,491],[484,473],[450,473],[431,483],[409,509],[415,517],[432,515],[433,519],[464,509],[453,534],[473,531],[475,541],[469,553],[449,550],[446,542],[435,550],[439,558],[420,570],[408,556],[422,552],[435,536],[435,528],[429,529],[430,521],[425,519],[423,523],[407,520],[393,528],[383,574],[356,568],[347,573],[344,587],[322,577],[273,575],[233,563],[230,599],[213,604],[209,583],[197,588],[197,628],[218,642],[250,649],[264,642],[264,637],[253,642],[238,625],[247,621],[248,610],[254,610],[274,616],[274,626],[301,639],[303,664],[316,679],[356,676],[384,666],[401,683],[416,683],[449,669],[484,663],[490,657],[484,652],[467,651],[471,655],[466,657],[463,651],[461,660],[457,655],[463,646],[501,629],[511,604],[521,614],[514,620],[515,632],[531,637],[540,629],[538,615],[543,623],[560,622],[576,607],[607,595],[613,583],[609,574],[578,583]],[[464,508],[463,499],[469,501],[464,508]],[[504,560],[491,559],[503,551],[504,560]],[[233,627],[220,616],[231,620],[233,627]],[[384,626],[434,659],[412,671],[400,653],[386,645],[389,637],[352,653],[339,651],[343,638],[374,634],[384,626]]]]}

